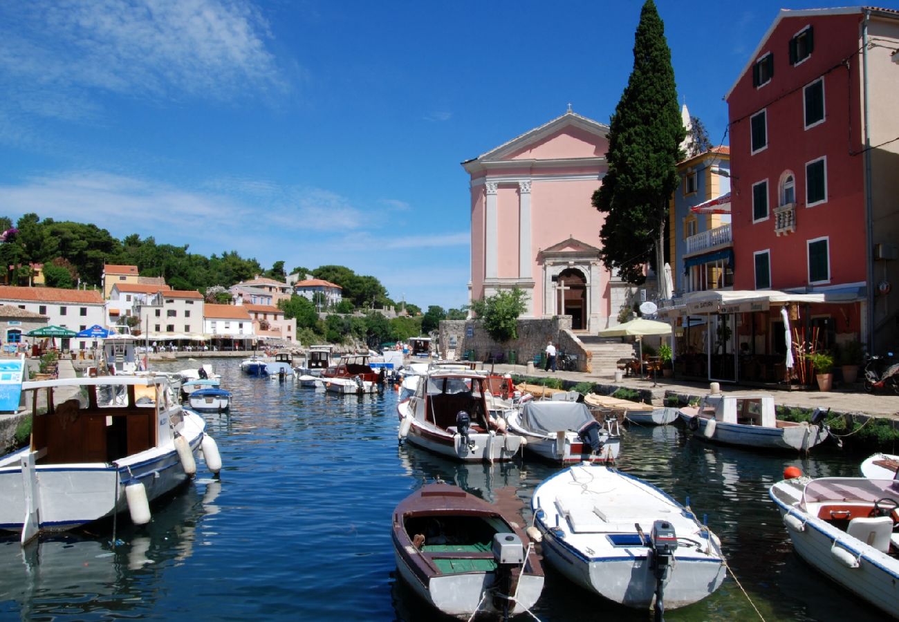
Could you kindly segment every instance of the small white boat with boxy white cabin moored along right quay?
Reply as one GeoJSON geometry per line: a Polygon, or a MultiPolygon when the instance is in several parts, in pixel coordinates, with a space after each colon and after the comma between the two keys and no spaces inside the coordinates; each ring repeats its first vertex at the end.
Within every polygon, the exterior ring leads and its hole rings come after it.
{"type": "Polygon", "coordinates": [[[697,406],[680,410],[693,436],[753,449],[808,451],[827,438],[823,413],[811,423],[775,417],[773,395],[707,395],[697,406]]]}

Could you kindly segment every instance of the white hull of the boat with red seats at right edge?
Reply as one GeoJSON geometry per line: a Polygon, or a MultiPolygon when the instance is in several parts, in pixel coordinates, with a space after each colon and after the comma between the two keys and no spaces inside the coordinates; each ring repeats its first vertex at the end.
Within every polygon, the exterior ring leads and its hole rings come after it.
{"type": "Polygon", "coordinates": [[[788,485],[788,482],[774,484],[769,493],[781,519],[786,519],[789,514],[802,524],[802,529],[789,524],[785,528],[797,555],[846,590],[895,617],[896,603],[899,602],[899,560],[850,538],[845,531],[824,520],[798,511],[788,497],[788,485]],[[856,558],[858,566],[850,567],[841,562],[834,555],[834,549],[848,551],[856,558]]]}

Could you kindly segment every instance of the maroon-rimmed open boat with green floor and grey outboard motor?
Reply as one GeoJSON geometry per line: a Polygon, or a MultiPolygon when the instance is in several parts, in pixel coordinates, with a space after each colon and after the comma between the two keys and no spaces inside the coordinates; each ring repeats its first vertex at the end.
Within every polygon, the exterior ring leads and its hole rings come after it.
{"type": "Polygon", "coordinates": [[[521,527],[457,486],[427,484],[400,502],[393,545],[400,576],[449,616],[524,613],[543,590],[521,527]]]}

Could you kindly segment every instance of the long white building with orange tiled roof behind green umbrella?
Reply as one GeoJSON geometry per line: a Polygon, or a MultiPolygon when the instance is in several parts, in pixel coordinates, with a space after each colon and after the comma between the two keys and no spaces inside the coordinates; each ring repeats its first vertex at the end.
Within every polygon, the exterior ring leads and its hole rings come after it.
{"type": "MultiPolygon", "coordinates": [[[[48,324],[62,326],[70,331],[83,331],[93,324],[106,324],[106,307],[102,292],[97,289],[17,288],[0,286],[0,305],[19,307],[31,313],[44,315],[48,324]]],[[[30,341],[27,336],[22,337],[30,341]]],[[[86,350],[90,339],[63,339],[58,342],[62,350],[86,350]]]]}

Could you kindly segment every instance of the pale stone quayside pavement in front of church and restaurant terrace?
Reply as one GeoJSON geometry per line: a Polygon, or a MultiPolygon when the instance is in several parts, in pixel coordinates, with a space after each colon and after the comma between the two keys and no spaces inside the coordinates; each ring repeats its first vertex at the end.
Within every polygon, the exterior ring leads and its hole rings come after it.
{"type": "MultiPolygon", "coordinates": [[[[494,365],[484,364],[485,369],[493,368],[500,373],[517,374],[520,376],[531,376],[534,378],[553,377],[562,380],[570,380],[571,382],[592,382],[601,385],[610,392],[617,387],[626,387],[637,389],[645,392],[645,395],[651,395],[652,403],[662,405],[665,395],[684,395],[684,396],[702,396],[708,395],[708,382],[693,382],[690,380],[678,380],[675,378],[653,378],[641,379],[634,377],[622,378],[620,382],[615,382],[612,376],[600,376],[593,373],[584,373],[577,371],[556,371],[547,372],[543,369],[534,369],[529,371],[525,365],[494,365]]],[[[789,408],[806,408],[813,409],[817,407],[831,408],[834,413],[852,413],[863,414],[873,417],[883,417],[899,421],[899,395],[890,393],[865,393],[863,389],[858,391],[850,390],[834,390],[834,391],[818,391],[810,389],[808,391],[787,390],[787,389],[770,389],[755,387],[740,387],[722,382],[721,392],[736,395],[752,395],[758,393],[770,393],[774,395],[774,401],[779,406],[787,406],[789,408]]],[[[860,387],[860,383],[859,383],[860,387]]]]}

